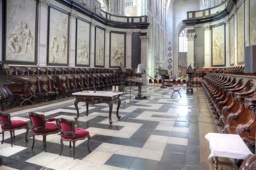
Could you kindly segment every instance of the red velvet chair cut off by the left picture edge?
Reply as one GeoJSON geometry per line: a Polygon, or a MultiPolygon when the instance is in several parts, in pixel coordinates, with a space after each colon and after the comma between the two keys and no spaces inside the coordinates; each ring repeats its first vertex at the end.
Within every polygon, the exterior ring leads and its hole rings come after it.
{"type": "Polygon", "coordinates": [[[14,131],[18,130],[18,129],[23,129],[23,128],[26,128],[25,140],[26,140],[26,142],[29,141],[27,138],[27,135],[29,132],[29,127],[28,127],[28,123],[26,121],[19,121],[19,120],[11,121],[10,113],[4,113],[4,112],[0,111],[0,124],[1,124],[1,128],[2,128],[2,133],[3,133],[1,144],[3,144],[5,131],[9,131],[11,134],[11,146],[12,146],[13,138],[15,138],[14,131]],[[12,133],[13,133],[13,135],[12,135],[12,133]]]}

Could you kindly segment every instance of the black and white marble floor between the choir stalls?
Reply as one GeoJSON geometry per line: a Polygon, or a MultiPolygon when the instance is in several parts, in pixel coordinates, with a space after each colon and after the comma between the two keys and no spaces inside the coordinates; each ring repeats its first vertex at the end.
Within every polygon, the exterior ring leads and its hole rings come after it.
{"type": "MultiPolygon", "coordinates": [[[[151,95],[146,100],[135,100],[137,87],[121,97],[120,120],[116,118],[117,104],[113,105],[112,120],[97,115],[108,115],[108,105],[89,105],[86,116],[85,103],[79,103],[80,117],[76,127],[88,130],[91,135],[89,154],[87,140],[76,142],[76,159],[68,142],[60,152],[60,134],[47,135],[47,152],[43,152],[42,136],[35,137],[32,147],[32,133],[28,113],[15,115],[12,120],[24,120],[29,124],[29,141],[25,141],[26,130],[15,130],[14,145],[10,134],[0,144],[3,166],[0,170],[201,170],[197,108],[197,89],[194,95],[187,95],[180,89],[182,97],[172,89],[143,87],[143,94],[151,95]],[[125,102],[125,103],[124,103],[125,102]],[[190,122],[194,123],[190,123],[190,122]]],[[[54,107],[45,106],[36,112],[46,118],[67,118],[74,120],[76,109],[72,101],[54,107]]],[[[0,134],[0,140],[2,140],[0,134]]]]}

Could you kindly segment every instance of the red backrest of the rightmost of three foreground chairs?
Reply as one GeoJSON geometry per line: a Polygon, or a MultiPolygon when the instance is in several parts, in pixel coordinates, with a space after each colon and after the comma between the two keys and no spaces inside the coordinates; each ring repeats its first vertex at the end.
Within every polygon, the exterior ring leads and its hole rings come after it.
{"type": "Polygon", "coordinates": [[[65,118],[58,118],[56,119],[56,122],[58,124],[58,127],[60,128],[61,134],[72,135],[73,137],[75,137],[75,121],[70,121],[65,118]]]}

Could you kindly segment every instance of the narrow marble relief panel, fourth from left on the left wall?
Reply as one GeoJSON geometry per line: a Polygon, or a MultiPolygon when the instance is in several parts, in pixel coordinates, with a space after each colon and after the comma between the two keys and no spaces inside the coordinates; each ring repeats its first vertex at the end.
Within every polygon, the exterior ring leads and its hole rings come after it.
{"type": "Polygon", "coordinates": [[[95,66],[105,66],[105,30],[96,26],[95,66]]]}

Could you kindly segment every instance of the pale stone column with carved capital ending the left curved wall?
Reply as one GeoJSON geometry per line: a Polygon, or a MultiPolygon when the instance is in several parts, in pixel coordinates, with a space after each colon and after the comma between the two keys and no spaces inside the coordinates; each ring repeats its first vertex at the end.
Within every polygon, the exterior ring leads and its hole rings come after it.
{"type": "MultiPolygon", "coordinates": [[[[143,64],[143,69],[148,70],[148,36],[140,36],[140,46],[141,46],[141,52],[140,52],[140,62],[143,64]]],[[[143,75],[143,84],[147,84],[147,73],[143,75]]]]}

